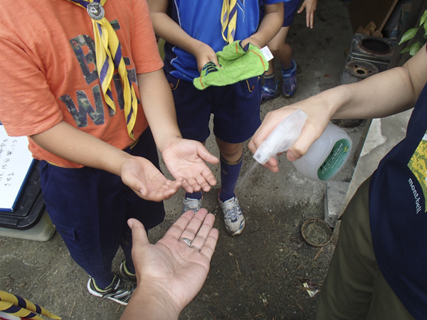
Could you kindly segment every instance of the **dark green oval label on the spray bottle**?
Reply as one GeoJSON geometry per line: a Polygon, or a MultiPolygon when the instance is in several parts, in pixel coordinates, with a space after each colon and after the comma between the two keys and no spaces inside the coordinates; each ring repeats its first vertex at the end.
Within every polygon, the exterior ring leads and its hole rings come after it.
{"type": "Polygon", "coordinates": [[[327,156],[325,162],[323,162],[322,166],[317,169],[317,176],[322,181],[327,181],[332,176],[337,174],[339,168],[341,168],[342,164],[344,164],[347,156],[349,156],[350,152],[350,142],[348,139],[338,140],[329,156],[327,156]]]}

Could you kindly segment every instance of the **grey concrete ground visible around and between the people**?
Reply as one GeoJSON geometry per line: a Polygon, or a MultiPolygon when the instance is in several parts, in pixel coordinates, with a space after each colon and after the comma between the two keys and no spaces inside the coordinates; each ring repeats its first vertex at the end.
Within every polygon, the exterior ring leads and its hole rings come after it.
{"type": "MultiPolygon", "coordinates": [[[[295,16],[288,43],[298,63],[298,89],[291,98],[281,96],[262,105],[262,118],[270,110],[338,85],[344,51],[352,40],[348,4],[320,0],[313,29],[305,27],[305,11],[295,16]]],[[[346,129],[353,139],[353,152],[363,128],[362,123],[346,129]]],[[[213,137],[206,146],[218,156],[213,137]]],[[[246,147],[241,178],[253,164],[246,147]]],[[[334,180],[349,182],[354,166],[355,161],[348,161],[334,180]]],[[[219,181],[219,167],[211,169],[219,181]]],[[[319,249],[304,242],[300,227],[307,218],[324,218],[326,185],[303,178],[284,156],[279,174],[257,166],[236,190],[247,219],[246,230],[236,238],[223,226],[218,189],[215,186],[204,194],[204,207],[216,214],[219,230],[211,271],[180,319],[314,319],[318,294],[310,297],[303,283],[321,288],[337,232],[329,245],[319,249]]],[[[181,190],[165,201],[167,218],[150,231],[150,241],[161,238],[179,217],[182,196],[181,190]]],[[[1,290],[41,304],[65,320],[120,318],[123,306],[88,293],[88,276],[70,258],[58,233],[47,242],[0,237],[0,252],[1,290]]],[[[118,252],[114,270],[121,260],[118,252]]]]}

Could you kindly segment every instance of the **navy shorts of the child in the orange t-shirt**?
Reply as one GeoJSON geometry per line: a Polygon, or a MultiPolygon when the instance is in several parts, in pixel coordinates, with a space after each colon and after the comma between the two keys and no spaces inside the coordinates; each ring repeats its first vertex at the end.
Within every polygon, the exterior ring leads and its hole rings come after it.
{"type": "MultiPolygon", "coordinates": [[[[159,168],[149,129],[125,151],[143,156],[159,168]]],[[[46,210],[71,257],[92,277],[111,274],[122,234],[129,228],[127,219],[137,218],[146,230],[164,220],[162,202],[139,198],[115,174],[89,167],[61,168],[46,161],[40,161],[40,173],[46,210]]]]}

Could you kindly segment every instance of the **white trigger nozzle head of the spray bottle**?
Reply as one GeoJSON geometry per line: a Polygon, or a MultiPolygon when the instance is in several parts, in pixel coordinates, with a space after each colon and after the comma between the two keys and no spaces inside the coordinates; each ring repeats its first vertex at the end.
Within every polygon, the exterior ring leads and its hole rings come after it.
{"type": "Polygon", "coordinates": [[[305,120],[307,114],[301,110],[296,110],[285,117],[255,151],[253,159],[265,164],[272,156],[277,159],[277,154],[288,151],[300,137],[305,120]]]}

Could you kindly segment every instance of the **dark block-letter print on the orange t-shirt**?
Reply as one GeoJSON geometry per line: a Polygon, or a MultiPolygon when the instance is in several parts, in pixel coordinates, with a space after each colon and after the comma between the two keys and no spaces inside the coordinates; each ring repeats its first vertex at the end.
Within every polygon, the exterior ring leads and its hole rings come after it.
{"type": "MultiPolygon", "coordinates": [[[[115,31],[120,29],[120,25],[117,20],[110,22],[115,31]]],[[[70,40],[71,48],[75,53],[75,57],[78,60],[80,68],[83,72],[86,83],[96,81],[98,77],[97,68],[96,68],[96,55],[95,55],[95,41],[88,35],[80,35],[72,38],[70,40]]],[[[130,58],[123,57],[125,60],[125,65],[130,65],[130,58]]],[[[131,82],[137,83],[137,73],[135,68],[132,70],[127,70],[127,75],[131,82]]],[[[125,99],[123,97],[123,87],[122,80],[120,75],[116,72],[112,76],[112,83],[114,83],[115,90],[117,92],[117,102],[120,107],[120,110],[123,110],[125,107],[125,99]]],[[[113,86],[111,86],[113,87],[113,86]]],[[[78,90],[77,94],[77,106],[70,95],[63,95],[59,99],[64,102],[67,106],[68,111],[73,116],[75,124],[79,128],[88,127],[88,116],[92,119],[95,125],[100,125],[105,123],[105,114],[104,114],[104,104],[102,102],[102,95],[100,90],[100,85],[97,83],[92,87],[92,92],[85,92],[83,90],[78,90]],[[95,107],[88,99],[88,95],[92,95],[95,100],[95,107]]],[[[139,103],[139,100],[138,100],[139,103]]],[[[109,110],[110,117],[115,115],[115,111],[107,105],[109,110]]]]}

